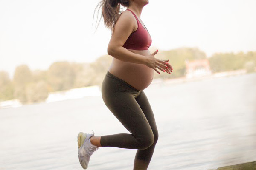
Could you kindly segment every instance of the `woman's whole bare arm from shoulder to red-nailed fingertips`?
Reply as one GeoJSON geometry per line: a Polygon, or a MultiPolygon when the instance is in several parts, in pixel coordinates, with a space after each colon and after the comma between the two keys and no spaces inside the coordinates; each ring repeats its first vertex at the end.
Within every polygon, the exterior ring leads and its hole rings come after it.
{"type": "Polygon", "coordinates": [[[154,55],[157,54],[157,51],[145,57],[140,54],[135,54],[123,47],[136,26],[137,20],[134,18],[133,14],[128,11],[122,12],[116,22],[108,44],[108,55],[124,62],[144,64],[149,68],[153,68],[157,73],[160,73],[157,68],[161,71],[171,73],[172,66],[167,63],[169,60],[161,60],[154,57],[154,55]]]}

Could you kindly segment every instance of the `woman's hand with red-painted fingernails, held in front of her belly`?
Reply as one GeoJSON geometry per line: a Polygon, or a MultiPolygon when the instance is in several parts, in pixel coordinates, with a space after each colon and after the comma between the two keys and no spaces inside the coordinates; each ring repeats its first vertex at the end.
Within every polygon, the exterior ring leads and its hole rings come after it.
{"type": "Polygon", "coordinates": [[[157,68],[163,72],[166,71],[167,73],[171,74],[172,66],[169,63],[167,63],[169,62],[169,59],[161,60],[161,59],[155,58],[154,55],[157,54],[157,52],[158,50],[147,56],[145,65],[148,66],[149,68],[153,68],[159,74],[160,72],[157,70],[157,68]]]}

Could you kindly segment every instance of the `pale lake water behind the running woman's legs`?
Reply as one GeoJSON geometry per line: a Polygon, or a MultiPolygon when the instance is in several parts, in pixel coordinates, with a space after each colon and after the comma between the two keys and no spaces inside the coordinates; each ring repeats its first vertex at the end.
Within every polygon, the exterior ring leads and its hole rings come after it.
{"type": "MultiPolygon", "coordinates": [[[[148,170],[207,170],[256,160],[256,73],[144,90],[159,139],[148,170]]],[[[0,170],[81,170],[77,134],[129,133],[101,96],[0,109],[0,170]]],[[[88,170],[132,170],[136,150],[102,147],[88,170]]]]}

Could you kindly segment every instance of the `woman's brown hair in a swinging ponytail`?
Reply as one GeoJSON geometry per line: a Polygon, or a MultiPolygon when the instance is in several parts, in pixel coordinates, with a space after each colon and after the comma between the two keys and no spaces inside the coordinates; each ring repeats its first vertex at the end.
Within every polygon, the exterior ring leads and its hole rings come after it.
{"type": "MultiPolygon", "coordinates": [[[[122,12],[120,12],[120,5],[124,7],[128,7],[129,0],[101,0],[96,6],[96,8],[99,6],[99,9],[102,7],[102,15],[100,17],[100,20],[103,17],[105,27],[110,28],[112,33],[116,25],[116,21],[118,20],[120,14],[122,14],[122,12]]],[[[94,18],[96,8],[93,13],[93,18],[94,18]]],[[[99,15],[99,9],[98,9],[98,15],[99,15]]],[[[97,15],[97,20],[98,20],[98,15],[97,15]]],[[[96,20],[96,23],[97,23],[97,20],[96,20]]]]}

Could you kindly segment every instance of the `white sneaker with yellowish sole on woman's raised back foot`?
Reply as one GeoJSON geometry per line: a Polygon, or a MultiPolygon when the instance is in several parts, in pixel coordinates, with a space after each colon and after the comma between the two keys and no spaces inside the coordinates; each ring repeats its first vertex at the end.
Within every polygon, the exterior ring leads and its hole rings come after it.
{"type": "Polygon", "coordinates": [[[90,138],[94,136],[93,134],[87,134],[80,132],[77,136],[77,142],[78,142],[78,159],[81,164],[81,166],[84,169],[87,169],[88,163],[90,161],[90,156],[93,154],[94,151],[98,150],[99,147],[94,146],[90,142],[90,138]]]}

